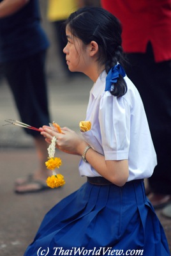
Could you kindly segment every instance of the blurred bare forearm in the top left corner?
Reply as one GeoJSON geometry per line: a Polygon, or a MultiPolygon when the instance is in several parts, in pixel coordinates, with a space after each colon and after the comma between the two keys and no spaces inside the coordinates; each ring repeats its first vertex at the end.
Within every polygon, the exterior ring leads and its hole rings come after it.
{"type": "Polygon", "coordinates": [[[0,19],[19,11],[29,0],[4,0],[0,3],[0,19]]]}

